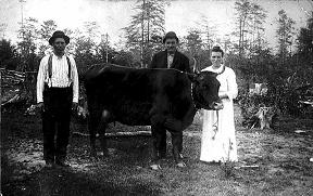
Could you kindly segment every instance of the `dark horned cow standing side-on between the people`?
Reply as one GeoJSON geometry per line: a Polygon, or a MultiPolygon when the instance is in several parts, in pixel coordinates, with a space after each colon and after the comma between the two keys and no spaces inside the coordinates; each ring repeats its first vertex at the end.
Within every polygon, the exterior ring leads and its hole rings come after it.
{"type": "Polygon", "coordinates": [[[91,154],[96,155],[96,133],[99,132],[103,154],[108,155],[104,133],[109,122],[151,126],[154,164],[160,158],[160,132],[168,130],[174,159],[184,167],[178,151],[183,141],[177,133],[191,125],[197,108],[218,109],[222,105],[217,94],[220,82],[216,74],[210,71],[186,74],[176,69],[99,64],[86,71],[85,88],[91,154]]]}

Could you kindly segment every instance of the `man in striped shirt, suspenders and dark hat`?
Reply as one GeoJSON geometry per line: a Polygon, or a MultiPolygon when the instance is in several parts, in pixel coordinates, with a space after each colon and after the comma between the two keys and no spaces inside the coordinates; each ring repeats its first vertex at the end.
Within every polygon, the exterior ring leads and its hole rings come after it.
{"type": "Polygon", "coordinates": [[[67,167],[65,159],[71,110],[75,110],[78,103],[78,74],[73,56],[65,54],[70,38],[57,30],[49,43],[53,53],[42,57],[37,76],[37,103],[42,112],[43,159],[48,168],[54,164],[67,167]]]}

